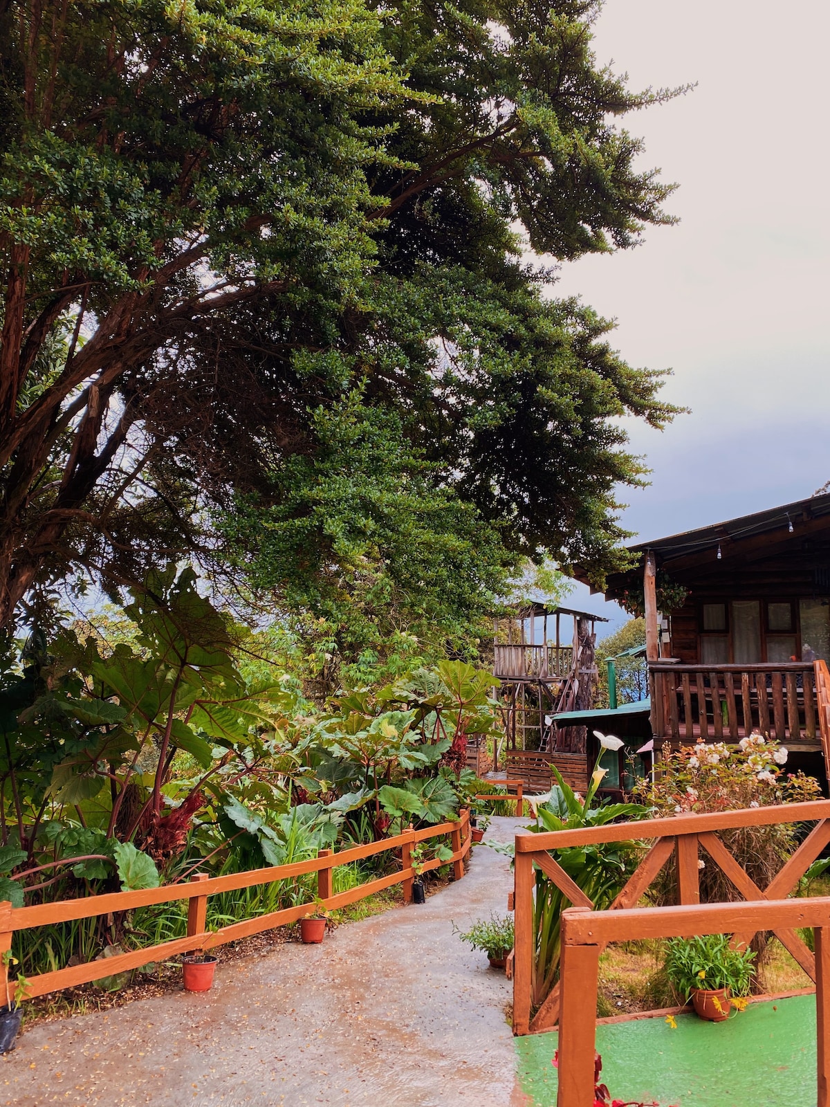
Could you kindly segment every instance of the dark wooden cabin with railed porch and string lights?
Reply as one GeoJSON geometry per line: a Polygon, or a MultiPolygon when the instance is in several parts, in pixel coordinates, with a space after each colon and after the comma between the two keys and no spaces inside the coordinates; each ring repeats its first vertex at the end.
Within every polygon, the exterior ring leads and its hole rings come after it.
{"type": "Polygon", "coordinates": [[[830,660],[830,495],[630,550],[639,566],[605,596],[645,614],[655,752],[759,730],[823,776],[815,662],[830,660]]]}

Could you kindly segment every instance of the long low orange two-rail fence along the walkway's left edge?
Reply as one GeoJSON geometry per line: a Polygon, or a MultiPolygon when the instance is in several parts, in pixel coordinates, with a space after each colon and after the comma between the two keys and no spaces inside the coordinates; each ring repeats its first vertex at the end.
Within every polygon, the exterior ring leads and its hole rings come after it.
{"type": "MultiPolygon", "coordinates": [[[[250,888],[253,884],[266,884],[274,881],[289,880],[292,877],[303,876],[309,872],[318,875],[318,896],[323,900],[329,910],[347,907],[357,900],[374,896],[375,892],[384,888],[392,888],[394,884],[403,884],[404,902],[412,901],[412,886],[415,879],[415,870],[412,867],[412,847],[417,842],[428,841],[430,838],[452,836],[453,856],[448,861],[434,859],[418,866],[419,872],[428,872],[432,869],[440,868],[443,865],[453,865],[453,873],[456,880],[464,876],[464,859],[470,849],[469,813],[463,811],[456,823],[442,823],[438,826],[425,827],[423,830],[407,830],[394,838],[384,838],[381,841],[370,842],[366,846],[355,846],[353,849],[344,849],[334,853],[331,850],[320,850],[320,856],[310,858],[308,861],[295,861],[292,865],[272,866],[266,869],[251,869],[247,872],[235,872],[225,877],[208,877],[199,873],[187,883],[166,884],[162,888],[147,888],[143,891],[134,892],[107,892],[103,896],[87,896],[84,899],[61,900],[55,903],[42,903],[33,907],[12,908],[8,901],[0,902],[0,954],[11,948],[12,935],[15,930],[28,930],[31,927],[43,927],[51,923],[70,922],[74,919],[89,919],[96,915],[110,914],[115,911],[129,911],[138,907],[148,907],[154,903],[173,903],[176,900],[189,900],[187,911],[187,934],[184,938],[164,942],[160,945],[145,946],[139,950],[131,950],[113,958],[107,958],[105,962],[94,961],[86,964],[74,965],[69,969],[59,969],[55,972],[40,973],[28,979],[29,987],[27,997],[45,995],[48,992],[56,992],[64,987],[74,987],[77,984],[87,984],[90,981],[98,980],[102,974],[111,976],[116,973],[126,972],[129,969],[138,969],[152,961],[163,961],[176,953],[186,953],[189,950],[208,950],[216,945],[224,945],[240,938],[248,938],[250,934],[258,934],[263,930],[271,930],[273,927],[282,927],[291,922],[297,922],[303,915],[310,914],[314,910],[313,903],[300,903],[295,907],[283,908],[280,911],[272,911],[270,914],[258,915],[253,919],[246,919],[242,922],[235,922],[221,930],[209,932],[205,930],[207,914],[207,898],[217,892],[237,891],[241,888],[250,888]],[[349,865],[352,861],[363,860],[375,853],[383,853],[387,850],[401,850],[401,870],[388,876],[370,880],[357,888],[350,888],[345,892],[336,896],[332,891],[332,870],[341,865],[349,865]]],[[[4,995],[4,970],[0,966],[0,995],[4,995]]]]}

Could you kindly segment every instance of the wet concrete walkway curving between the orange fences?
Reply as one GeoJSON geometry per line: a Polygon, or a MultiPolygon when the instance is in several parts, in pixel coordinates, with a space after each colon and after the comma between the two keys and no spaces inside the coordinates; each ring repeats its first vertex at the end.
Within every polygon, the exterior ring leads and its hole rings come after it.
{"type": "MultiPolygon", "coordinates": [[[[521,825],[494,819],[488,837],[521,825]]],[[[510,983],[453,934],[504,915],[511,887],[508,858],[478,846],[424,906],[220,964],[203,995],[34,1026],[0,1058],[0,1105],[519,1104],[510,983]]]]}

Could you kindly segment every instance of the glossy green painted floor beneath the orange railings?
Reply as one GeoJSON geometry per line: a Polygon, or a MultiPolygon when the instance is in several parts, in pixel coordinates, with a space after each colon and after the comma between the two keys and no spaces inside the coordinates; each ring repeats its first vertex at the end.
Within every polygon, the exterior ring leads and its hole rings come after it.
{"type": "MultiPolygon", "coordinates": [[[[553,1107],[556,1034],[516,1038],[519,1080],[532,1107],[553,1107]]],[[[816,999],[754,1003],[726,1023],[677,1016],[596,1027],[612,1099],[661,1107],[815,1107],[816,999]]]]}

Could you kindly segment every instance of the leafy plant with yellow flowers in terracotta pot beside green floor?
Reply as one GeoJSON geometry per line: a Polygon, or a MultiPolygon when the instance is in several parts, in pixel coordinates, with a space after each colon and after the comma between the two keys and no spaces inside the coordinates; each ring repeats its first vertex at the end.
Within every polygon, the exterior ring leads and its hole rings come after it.
{"type": "Polygon", "coordinates": [[[753,982],[751,950],[733,950],[728,934],[673,938],[665,969],[673,986],[694,1003],[701,1018],[722,1023],[734,1006],[743,1011],[753,982]]]}

